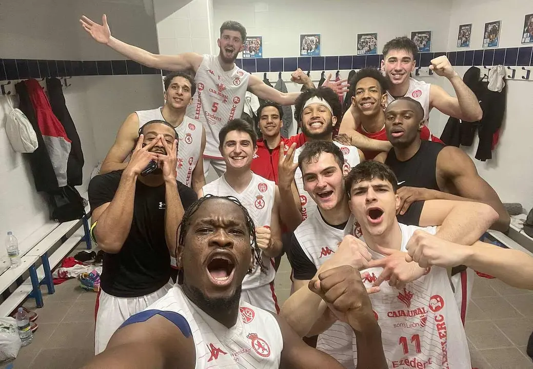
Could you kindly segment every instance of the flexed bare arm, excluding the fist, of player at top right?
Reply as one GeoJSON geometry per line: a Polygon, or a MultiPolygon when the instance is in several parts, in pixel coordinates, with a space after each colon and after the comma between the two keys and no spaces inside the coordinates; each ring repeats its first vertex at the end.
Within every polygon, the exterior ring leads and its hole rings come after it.
{"type": "Polygon", "coordinates": [[[430,87],[430,108],[437,108],[450,117],[469,122],[480,120],[483,117],[483,111],[472,90],[465,85],[457,73],[449,78],[449,81],[454,87],[457,97],[448,95],[442,87],[432,84],[430,87]]]}

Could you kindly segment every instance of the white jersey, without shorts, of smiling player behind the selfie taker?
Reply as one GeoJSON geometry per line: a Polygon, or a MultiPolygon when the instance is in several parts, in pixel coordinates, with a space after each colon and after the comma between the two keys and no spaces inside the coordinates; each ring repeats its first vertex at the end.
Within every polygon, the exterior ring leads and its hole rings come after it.
{"type": "MultiPolygon", "coordinates": [[[[276,183],[252,173],[252,181],[250,181],[246,190],[237,193],[226,182],[224,174],[222,177],[202,187],[202,191],[204,195],[235,196],[248,210],[248,214],[256,227],[270,227],[272,207],[276,197],[276,183]]],[[[274,280],[276,271],[273,267],[273,260],[265,255],[262,255],[262,260],[266,267],[264,272],[261,272],[261,269],[254,265],[252,273],[247,274],[244,278],[243,290],[253,290],[274,280]]]]}

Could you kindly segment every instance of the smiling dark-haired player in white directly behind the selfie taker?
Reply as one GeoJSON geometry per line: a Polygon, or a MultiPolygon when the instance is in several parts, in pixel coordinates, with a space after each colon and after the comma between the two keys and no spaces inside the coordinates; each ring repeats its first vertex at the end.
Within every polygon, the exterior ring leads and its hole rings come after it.
{"type": "Polygon", "coordinates": [[[248,209],[256,225],[257,245],[261,249],[261,261],[265,267],[254,268],[244,278],[242,298],[249,304],[278,313],[273,261],[282,250],[278,186],[250,170],[257,150],[257,138],[248,122],[243,119],[231,120],[220,130],[219,135],[226,173],[205,185],[200,195],[234,196],[248,209]]]}

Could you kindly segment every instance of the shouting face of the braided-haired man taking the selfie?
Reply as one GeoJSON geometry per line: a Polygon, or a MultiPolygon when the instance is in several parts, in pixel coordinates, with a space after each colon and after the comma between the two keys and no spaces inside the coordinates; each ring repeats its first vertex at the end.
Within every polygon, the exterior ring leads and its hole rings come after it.
{"type": "Polygon", "coordinates": [[[220,305],[238,302],[241,284],[252,265],[243,210],[227,199],[205,200],[191,216],[183,243],[177,265],[183,268],[185,288],[212,305],[216,301],[220,305]]]}

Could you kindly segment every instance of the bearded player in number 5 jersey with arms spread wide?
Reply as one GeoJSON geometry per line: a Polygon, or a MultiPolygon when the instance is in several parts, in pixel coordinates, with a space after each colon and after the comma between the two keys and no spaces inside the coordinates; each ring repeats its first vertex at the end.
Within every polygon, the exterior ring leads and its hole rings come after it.
{"type": "MultiPolygon", "coordinates": [[[[246,40],[246,28],[235,21],[224,22],[220,27],[220,38],[217,40],[219,55],[152,54],[112,37],[105,14],[102,17],[102,25],[85,16],[80,19],[80,22],[97,42],[108,45],[128,59],[152,68],[190,70],[194,73],[198,94],[193,97],[193,103],[189,106],[187,115],[200,121],[206,131],[205,177],[207,177],[209,163],[219,176],[225,171],[224,160],[219,153],[218,134],[228,121],[240,118],[243,113],[246,91],[250,91],[260,99],[276,101],[281,105],[294,104],[296,97],[300,95],[300,92],[281,93],[266,85],[261,78],[235,65],[235,59],[243,51],[246,40]]],[[[309,88],[314,87],[311,79],[301,69],[293,73],[292,80],[309,88]]],[[[348,91],[345,81],[330,82],[328,79],[325,85],[333,88],[337,93],[344,93],[348,91]]]]}

